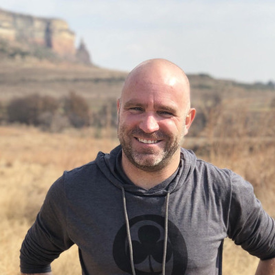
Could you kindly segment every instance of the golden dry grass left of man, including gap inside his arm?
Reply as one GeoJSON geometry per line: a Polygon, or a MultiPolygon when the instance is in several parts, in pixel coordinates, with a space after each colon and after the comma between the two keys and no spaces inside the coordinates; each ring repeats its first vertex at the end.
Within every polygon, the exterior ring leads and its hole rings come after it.
{"type": "MultiPolygon", "coordinates": [[[[44,133],[0,127],[0,274],[19,273],[19,249],[50,185],[63,173],[109,152],[116,140],[92,138],[91,129],[44,133]]],[[[81,274],[76,247],[53,263],[55,274],[81,274]]]]}

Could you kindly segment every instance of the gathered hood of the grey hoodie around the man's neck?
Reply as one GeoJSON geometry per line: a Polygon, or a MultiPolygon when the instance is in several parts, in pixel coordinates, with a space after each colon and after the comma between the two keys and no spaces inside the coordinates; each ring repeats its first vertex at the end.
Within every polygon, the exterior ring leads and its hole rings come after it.
{"type": "Polygon", "coordinates": [[[160,182],[158,185],[146,190],[136,186],[129,180],[121,167],[122,148],[117,146],[110,154],[99,152],[95,160],[101,172],[117,188],[124,188],[126,192],[131,192],[140,196],[165,196],[167,193],[176,192],[181,188],[195,169],[197,160],[195,154],[184,148],[180,152],[180,164],[177,171],[167,180],[160,182]]]}

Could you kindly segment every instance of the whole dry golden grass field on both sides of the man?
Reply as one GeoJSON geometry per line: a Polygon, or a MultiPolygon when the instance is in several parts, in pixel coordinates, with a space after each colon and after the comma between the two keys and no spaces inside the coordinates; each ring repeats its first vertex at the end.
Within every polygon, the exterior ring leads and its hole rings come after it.
{"type": "MultiPolygon", "coordinates": [[[[118,144],[117,140],[94,139],[93,136],[92,129],[46,133],[34,127],[0,126],[1,275],[19,275],[21,242],[52,182],[64,170],[89,162],[99,150],[109,152],[118,144]]],[[[190,144],[188,138],[186,144],[190,144]]],[[[255,190],[263,199],[264,207],[275,216],[274,144],[268,147],[258,145],[254,152],[246,150],[241,140],[238,144],[232,145],[231,153],[226,157],[215,152],[211,161],[255,180],[255,190]]],[[[258,259],[236,247],[232,241],[225,241],[223,274],[254,274],[257,264],[258,259]]],[[[64,252],[54,261],[52,269],[56,275],[81,274],[77,248],[73,246],[64,252]]]]}

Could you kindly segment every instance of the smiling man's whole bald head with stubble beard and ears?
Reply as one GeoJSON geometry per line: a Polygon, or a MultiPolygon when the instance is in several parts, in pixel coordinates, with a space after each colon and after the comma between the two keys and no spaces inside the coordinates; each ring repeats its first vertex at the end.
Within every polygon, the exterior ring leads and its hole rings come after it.
{"type": "Polygon", "coordinates": [[[195,117],[190,87],[174,63],[152,59],[128,75],[117,103],[123,158],[145,171],[158,171],[180,158],[182,138],[195,117]]]}

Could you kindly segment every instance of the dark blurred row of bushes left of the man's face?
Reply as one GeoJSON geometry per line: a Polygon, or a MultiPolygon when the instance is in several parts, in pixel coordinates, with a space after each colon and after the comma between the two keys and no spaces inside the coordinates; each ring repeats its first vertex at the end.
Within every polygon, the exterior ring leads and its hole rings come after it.
{"type": "Polygon", "coordinates": [[[62,98],[38,93],[0,102],[0,122],[21,123],[41,127],[46,131],[61,131],[66,127],[116,127],[116,100],[110,99],[99,110],[91,110],[87,100],[70,92],[62,98]]]}

